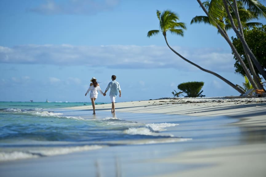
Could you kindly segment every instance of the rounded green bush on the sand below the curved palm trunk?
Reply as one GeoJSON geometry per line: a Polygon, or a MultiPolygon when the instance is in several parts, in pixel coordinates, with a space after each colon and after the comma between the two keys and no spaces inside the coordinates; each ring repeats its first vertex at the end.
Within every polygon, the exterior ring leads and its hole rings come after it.
{"type": "Polygon", "coordinates": [[[204,82],[184,82],[182,84],[179,84],[177,88],[185,92],[188,97],[198,97],[203,92],[200,92],[203,85],[204,82]]]}

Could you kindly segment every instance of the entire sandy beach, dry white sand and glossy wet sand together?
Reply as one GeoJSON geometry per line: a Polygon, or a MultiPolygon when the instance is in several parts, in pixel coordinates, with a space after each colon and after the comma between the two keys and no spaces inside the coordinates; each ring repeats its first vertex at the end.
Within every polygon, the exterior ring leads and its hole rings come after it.
{"type": "MultiPolygon", "coordinates": [[[[65,108],[67,116],[165,127],[171,138],[0,163],[0,176],[266,176],[266,98],[164,98],[65,108]]],[[[59,111],[55,110],[55,111],[59,111]]]]}

